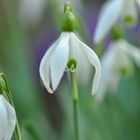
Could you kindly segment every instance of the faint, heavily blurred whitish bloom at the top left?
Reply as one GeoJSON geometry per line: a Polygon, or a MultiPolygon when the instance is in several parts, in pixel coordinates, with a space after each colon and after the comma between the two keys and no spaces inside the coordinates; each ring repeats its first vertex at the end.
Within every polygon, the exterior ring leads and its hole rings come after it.
{"type": "Polygon", "coordinates": [[[46,5],[46,0],[20,0],[18,14],[22,25],[36,26],[42,19],[46,5]]]}

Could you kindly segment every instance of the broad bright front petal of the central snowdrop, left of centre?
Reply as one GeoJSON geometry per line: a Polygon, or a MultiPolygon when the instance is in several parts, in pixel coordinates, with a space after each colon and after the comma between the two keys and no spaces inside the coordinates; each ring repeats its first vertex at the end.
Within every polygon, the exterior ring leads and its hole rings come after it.
{"type": "Polygon", "coordinates": [[[60,41],[51,57],[51,82],[53,90],[56,90],[66,68],[69,57],[69,33],[63,32],[60,41]]]}

